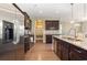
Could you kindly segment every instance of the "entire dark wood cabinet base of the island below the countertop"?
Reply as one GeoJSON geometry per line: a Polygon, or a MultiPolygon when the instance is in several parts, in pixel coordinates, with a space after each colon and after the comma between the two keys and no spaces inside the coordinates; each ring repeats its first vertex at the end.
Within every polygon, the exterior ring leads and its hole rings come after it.
{"type": "Polygon", "coordinates": [[[62,61],[86,61],[87,51],[54,37],[54,52],[62,61]]]}

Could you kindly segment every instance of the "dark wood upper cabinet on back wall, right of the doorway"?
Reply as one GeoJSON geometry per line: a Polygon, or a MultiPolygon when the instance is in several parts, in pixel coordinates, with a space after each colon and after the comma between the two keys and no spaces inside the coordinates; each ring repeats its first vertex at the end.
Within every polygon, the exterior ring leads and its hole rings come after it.
{"type": "Polygon", "coordinates": [[[45,30],[58,30],[59,21],[58,20],[46,20],[45,21],[45,30]]]}

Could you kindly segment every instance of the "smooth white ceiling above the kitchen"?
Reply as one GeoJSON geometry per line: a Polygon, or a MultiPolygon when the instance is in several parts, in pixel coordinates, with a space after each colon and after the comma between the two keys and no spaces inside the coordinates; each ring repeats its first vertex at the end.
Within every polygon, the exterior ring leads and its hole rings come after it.
{"type": "MultiPolygon", "coordinates": [[[[17,3],[23,11],[25,11],[31,19],[58,19],[61,21],[70,21],[72,6],[70,3],[17,3]]],[[[84,14],[83,3],[75,3],[73,6],[74,20],[80,21],[84,14]]],[[[86,7],[87,9],[87,7],[86,7]]],[[[85,10],[86,10],[85,9],[85,10]]]]}

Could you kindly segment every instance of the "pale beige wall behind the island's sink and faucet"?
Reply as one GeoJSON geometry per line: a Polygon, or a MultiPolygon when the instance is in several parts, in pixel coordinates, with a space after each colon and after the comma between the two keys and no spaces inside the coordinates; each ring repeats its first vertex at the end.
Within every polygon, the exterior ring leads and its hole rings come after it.
{"type": "Polygon", "coordinates": [[[87,21],[75,22],[70,24],[70,22],[62,22],[62,33],[64,35],[75,36],[75,34],[87,35],[87,21]],[[76,26],[76,24],[79,24],[76,26]]]}

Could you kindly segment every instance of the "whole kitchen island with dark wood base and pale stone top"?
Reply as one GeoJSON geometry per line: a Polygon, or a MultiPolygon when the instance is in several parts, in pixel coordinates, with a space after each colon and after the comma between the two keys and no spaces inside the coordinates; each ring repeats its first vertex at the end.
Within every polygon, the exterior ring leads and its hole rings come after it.
{"type": "Polygon", "coordinates": [[[63,35],[53,35],[53,50],[63,61],[87,59],[87,40],[75,40],[63,35]]]}

